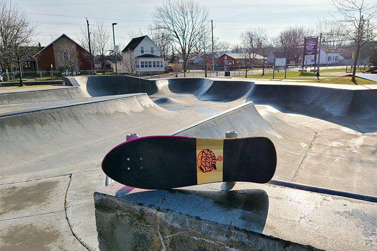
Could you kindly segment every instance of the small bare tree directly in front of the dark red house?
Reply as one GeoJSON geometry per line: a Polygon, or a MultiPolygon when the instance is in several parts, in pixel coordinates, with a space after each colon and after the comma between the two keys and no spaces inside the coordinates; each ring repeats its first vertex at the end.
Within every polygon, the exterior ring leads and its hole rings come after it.
{"type": "Polygon", "coordinates": [[[60,70],[69,71],[75,75],[82,65],[78,57],[76,44],[63,44],[59,48],[59,57],[57,61],[60,65],[60,70]]]}

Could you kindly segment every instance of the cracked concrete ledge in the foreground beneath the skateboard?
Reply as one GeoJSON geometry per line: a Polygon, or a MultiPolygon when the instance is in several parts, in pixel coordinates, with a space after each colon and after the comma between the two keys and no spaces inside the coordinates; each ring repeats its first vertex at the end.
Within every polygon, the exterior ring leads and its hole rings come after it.
{"type": "Polygon", "coordinates": [[[95,192],[100,250],[376,250],[377,204],[269,184],[95,192]]]}

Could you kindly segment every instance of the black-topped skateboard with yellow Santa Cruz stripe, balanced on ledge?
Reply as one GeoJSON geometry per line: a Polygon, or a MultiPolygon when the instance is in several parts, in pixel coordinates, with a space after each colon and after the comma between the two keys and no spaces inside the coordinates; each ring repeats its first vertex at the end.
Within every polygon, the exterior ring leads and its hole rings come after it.
{"type": "Polygon", "coordinates": [[[143,189],[267,183],[275,173],[276,150],[267,137],[149,136],[113,148],[103,158],[102,169],[116,182],[143,189]]]}

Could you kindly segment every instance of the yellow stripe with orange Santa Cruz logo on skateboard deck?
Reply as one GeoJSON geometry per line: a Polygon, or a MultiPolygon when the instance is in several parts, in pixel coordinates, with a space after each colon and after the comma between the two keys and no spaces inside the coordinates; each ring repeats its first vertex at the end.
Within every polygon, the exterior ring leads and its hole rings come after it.
{"type": "Polygon", "coordinates": [[[223,181],[223,148],[223,139],[196,139],[198,185],[223,181]],[[201,154],[203,150],[205,150],[205,152],[201,154]],[[211,152],[213,152],[214,156],[211,152]],[[201,165],[201,168],[199,165],[201,165]],[[214,167],[216,167],[216,169],[214,169],[214,167]],[[201,169],[204,170],[204,172],[201,169]]]}

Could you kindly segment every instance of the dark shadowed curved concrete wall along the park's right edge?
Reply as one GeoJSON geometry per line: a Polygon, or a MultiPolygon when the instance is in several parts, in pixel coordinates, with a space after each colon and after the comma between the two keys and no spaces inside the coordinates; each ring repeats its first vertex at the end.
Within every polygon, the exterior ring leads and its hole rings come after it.
{"type": "MultiPolygon", "coordinates": [[[[377,88],[340,89],[308,85],[255,84],[247,101],[283,112],[345,124],[376,125],[377,88]]],[[[374,126],[372,131],[377,131],[374,126]]]]}

